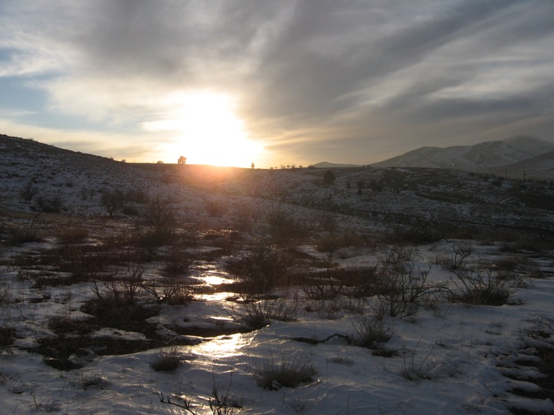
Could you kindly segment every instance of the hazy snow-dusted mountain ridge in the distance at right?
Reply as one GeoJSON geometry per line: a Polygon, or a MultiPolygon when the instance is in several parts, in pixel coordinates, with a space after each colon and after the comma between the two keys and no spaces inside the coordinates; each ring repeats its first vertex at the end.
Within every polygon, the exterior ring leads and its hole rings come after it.
{"type": "MultiPolygon", "coordinates": [[[[454,147],[421,147],[400,156],[389,158],[373,167],[435,167],[466,170],[470,172],[491,171],[504,169],[504,173],[514,176],[517,163],[530,160],[554,151],[554,143],[542,140],[535,136],[514,136],[501,141],[487,141],[476,145],[454,147]],[[511,167],[510,167],[511,166],[511,167]],[[510,170],[510,172],[508,172],[510,170]]],[[[522,165],[524,165],[523,163],[522,165]]],[[[521,166],[522,166],[521,165],[521,166]]],[[[521,169],[521,166],[517,169],[521,169]]],[[[528,169],[535,167],[538,174],[554,172],[554,158],[542,159],[538,165],[528,165],[528,169]]],[[[553,173],[554,174],[554,173],[553,173]]],[[[549,176],[549,174],[548,174],[549,176]]]]}

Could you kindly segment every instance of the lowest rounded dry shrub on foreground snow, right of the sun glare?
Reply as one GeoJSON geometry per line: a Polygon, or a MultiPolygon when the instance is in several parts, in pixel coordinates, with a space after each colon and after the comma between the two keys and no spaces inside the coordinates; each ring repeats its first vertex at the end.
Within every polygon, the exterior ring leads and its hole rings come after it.
{"type": "Polygon", "coordinates": [[[310,357],[286,352],[263,358],[261,364],[253,362],[250,371],[258,386],[269,390],[310,383],[316,373],[310,357]]]}

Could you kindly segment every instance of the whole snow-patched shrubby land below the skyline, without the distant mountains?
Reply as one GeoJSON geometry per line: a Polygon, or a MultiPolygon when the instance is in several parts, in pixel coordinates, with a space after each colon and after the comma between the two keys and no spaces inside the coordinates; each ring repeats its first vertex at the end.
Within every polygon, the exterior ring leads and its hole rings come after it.
{"type": "Polygon", "coordinates": [[[326,170],[0,136],[4,413],[553,413],[554,186],[326,170]]]}

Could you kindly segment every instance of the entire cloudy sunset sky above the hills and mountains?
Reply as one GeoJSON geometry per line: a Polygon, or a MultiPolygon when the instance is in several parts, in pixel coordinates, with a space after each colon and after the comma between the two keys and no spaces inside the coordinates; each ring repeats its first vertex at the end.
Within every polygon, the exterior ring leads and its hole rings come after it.
{"type": "Polygon", "coordinates": [[[552,0],[2,0],[0,133],[128,162],[554,141],[552,0]]]}

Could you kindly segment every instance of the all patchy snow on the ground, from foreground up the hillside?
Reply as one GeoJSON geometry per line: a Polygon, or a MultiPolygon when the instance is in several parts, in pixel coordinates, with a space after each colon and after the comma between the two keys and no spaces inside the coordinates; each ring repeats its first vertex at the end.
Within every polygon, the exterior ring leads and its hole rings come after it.
{"type": "MultiPolygon", "coordinates": [[[[175,403],[183,403],[179,397],[190,399],[195,412],[211,414],[209,401],[214,386],[220,393],[229,391],[229,396],[242,405],[240,413],[244,414],[493,415],[506,414],[510,408],[554,414],[550,398],[531,397],[541,390],[536,382],[544,376],[532,366],[539,362],[533,351],[554,349],[554,252],[546,243],[539,252],[521,249],[506,252],[506,243],[494,239],[497,237],[494,234],[487,243],[450,237],[427,245],[406,246],[413,250],[415,269],[429,269],[429,282],[452,287],[454,274],[437,264],[437,258],[452,255],[456,243],[471,244],[468,265],[486,268],[514,264],[513,273],[521,280],[506,286],[508,302],[501,306],[452,303],[441,297],[427,306],[423,304],[414,315],[385,316],[384,323],[393,335],[379,346],[393,352],[391,357],[377,356],[370,349],[347,341],[355,337],[355,325],[359,324],[359,315],[347,306],[339,307],[330,319],[320,317],[310,308],[298,307],[296,321],[271,320],[262,329],[238,333],[243,327],[235,319],[239,305],[231,301],[238,294],[226,291],[226,284],[236,277],[225,265],[244,255],[249,244],[260,237],[256,233],[263,222],[260,212],[269,208],[278,206],[301,223],[298,226],[305,234],[289,247],[296,249],[299,256],[311,261],[332,259],[334,269],[352,270],[380,264],[394,246],[383,236],[390,234],[392,222],[382,219],[400,217],[406,210],[427,221],[472,221],[477,228],[488,230],[488,221],[494,218],[499,229],[521,225],[542,228],[546,234],[554,223],[553,212],[519,206],[519,196],[507,193],[517,182],[506,181],[497,187],[463,172],[437,175],[413,169],[352,169],[341,171],[337,182],[327,186],[321,183],[321,172],[247,170],[231,177],[231,170],[218,169],[213,173],[217,176],[214,185],[212,178],[195,173],[191,167],[190,176],[182,181],[175,178],[161,185],[161,176],[154,170],[131,166],[129,174],[129,166],[113,160],[94,159],[100,164],[95,165],[91,174],[84,166],[93,162],[82,161],[82,169],[71,170],[71,166],[78,165],[75,159],[58,160],[55,152],[37,154],[34,162],[21,157],[19,165],[13,154],[10,157],[10,163],[3,159],[0,170],[0,186],[5,196],[2,208],[10,211],[1,212],[2,224],[28,227],[34,221],[44,239],[21,246],[0,245],[0,283],[9,287],[8,301],[3,303],[0,317],[3,327],[17,330],[15,341],[0,347],[0,405],[4,414],[183,413],[179,407],[161,403],[160,393],[170,396],[175,403]],[[21,185],[38,174],[35,162],[40,168],[59,166],[60,172],[52,183],[46,179],[41,183],[43,192],[57,192],[64,198],[67,209],[60,216],[39,215],[33,219],[37,212],[19,200],[21,185]],[[69,176],[64,173],[66,169],[71,170],[69,176]],[[68,182],[70,176],[72,187],[56,185],[68,182]],[[358,180],[369,183],[386,177],[406,188],[396,192],[393,187],[396,184],[386,182],[390,187],[383,192],[364,187],[367,200],[355,194],[358,180]],[[352,183],[350,190],[346,187],[348,182],[352,183]],[[48,326],[53,317],[89,318],[80,306],[93,293],[89,282],[37,286],[34,276],[47,268],[40,267],[39,257],[45,250],[59,248],[62,230],[75,225],[89,230],[88,238],[81,242],[85,246],[102,246],[110,236],[123,238],[140,229],[134,218],[123,215],[108,218],[98,194],[84,200],[78,191],[94,188],[100,192],[102,187],[111,189],[117,185],[127,190],[143,189],[152,195],[177,196],[181,231],[191,232],[191,238],[196,232],[195,239],[200,240],[197,246],[184,248],[196,258],[186,278],[203,289],[195,293],[195,301],[186,305],[163,304],[159,314],[148,319],[156,324],[159,335],[167,336],[168,342],[162,347],[120,355],[74,354],[69,360],[80,362],[81,368],[57,370],[33,351],[39,347],[37,340],[55,336],[48,326]],[[438,200],[439,193],[452,200],[438,200]],[[424,194],[433,194],[437,200],[424,194]],[[499,200],[504,204],[499,205],[499,200]],[[208,202],[223,206],[224,213],[208,214],[208,202]],[[322,208],[331,212],[336,221],[333,234],[322,230],[318,222],[322,208]],[[373,211],[377,214],[371,214],[373,211]],[[248,223],[243,222],[242,212],[248,213],[248,223]],[[481,217],[485,219],[481,221],[481,217]],[[232,248],[223,246],[222,242],[230,240],[225,239],[230,238],[230,232],[220,231],[235,229],[233,226],[238,224],[248,225],[251,230],[242,232],[232,248]],[[341,240],[351,237],[352,241],[359,237],[363,242],[345,243],[332,253],[321,252],[318,243],[322,235],[338,235],[341,240]],[[28,258],[28,264],[15,265],[21,264],[22,258],[28,258]],[[194,335],[195,328],[225,333],[204,337],[194,335]],[[193,330],[177,335],[177,331],[185,329],[193,330]],[[186,346],[176,345],[171,341],[175,338],[190,341],[186,346]],[[179,357],[177,369],[167,372],[152,369],[152,361],[163,353],[179,357]],[[283,353],[310,360],[315,369],[313,381],[296,388],[259,387],[253,368],[283,353]],[[526,391],[527,396],[515,394],[514,390],[526,391]]],[[[551,197],[552,189],[548,186],[540,190],[545,197],[551,197]]],[[[153,251],[150,255],[156,257],[170,252],[170,247],[153,251]]],[[[145,277],[161,279],[162,266],[158,259],[149,261],[145,264],[145,277]]],[[[276,288],[275,293],[283,293],[282,289],[289,302],[303,304],[301,286],[276,288]]],[[[149,304],[145,293],[137,301],[149,304]]],[[[376,296],[366,297],[359,306],[370,316],[375,313],[377,302],[376,296]]],[[[91,334],[93,338],[139,341],[145,339],[145,334],[130,327],[127,330],[98,327],[91,334]]]]}

